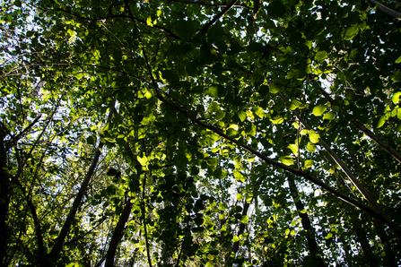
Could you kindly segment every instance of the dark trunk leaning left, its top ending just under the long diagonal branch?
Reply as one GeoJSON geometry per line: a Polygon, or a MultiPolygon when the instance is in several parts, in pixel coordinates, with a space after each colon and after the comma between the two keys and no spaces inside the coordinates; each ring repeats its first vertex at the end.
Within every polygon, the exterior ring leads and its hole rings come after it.
{"type": "Polygon", "coordinates": [[[323,261],[323,258],[321,257],[320,250],[318,249],[318,243],[316,242],[315,238],[315,229],[312,227],[310,223],[308,213],[301,212],[305,210],[305,207],[303,206],[301,200],[299,200],[298,189],[297,186],[295,185],[295,181],[291,176],[288,176],[287,180],[288,180],[288,185],[290,185],[290,193],[293,201],[295,202],[295,207],[297,208],[298,214],[301,217],[302,227],[307,234],[306,240],[308,242],[309,253],[314,259],[318,261],[317,265],[318,267],[324,267],[326,266],[326,264],[323,261]]]}

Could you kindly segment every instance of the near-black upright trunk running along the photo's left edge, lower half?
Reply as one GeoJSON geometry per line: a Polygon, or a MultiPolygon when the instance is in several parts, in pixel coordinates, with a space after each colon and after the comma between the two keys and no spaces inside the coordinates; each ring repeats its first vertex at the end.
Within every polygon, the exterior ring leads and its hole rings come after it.
{"type": "Polygon", "coordinates": [[[7,259],[7,220],[10,204],[10,177],[7,168],[4,137],[3,128],[0,128],[0,264],[5,264],[7,259]]]}

